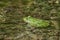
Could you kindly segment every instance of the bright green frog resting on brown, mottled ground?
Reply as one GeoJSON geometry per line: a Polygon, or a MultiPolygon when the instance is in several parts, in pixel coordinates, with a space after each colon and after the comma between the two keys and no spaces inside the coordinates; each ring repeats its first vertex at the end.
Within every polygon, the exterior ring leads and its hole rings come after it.
{"type": "Polygon", "coordinates": [[[28,25],[34,26],[34,27],[48,27],[50,25],[50,21],[48,20],[38,19],[31,16],[24,17],[23,20],[28,25]]]}

